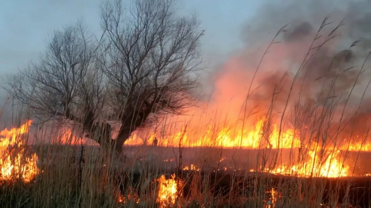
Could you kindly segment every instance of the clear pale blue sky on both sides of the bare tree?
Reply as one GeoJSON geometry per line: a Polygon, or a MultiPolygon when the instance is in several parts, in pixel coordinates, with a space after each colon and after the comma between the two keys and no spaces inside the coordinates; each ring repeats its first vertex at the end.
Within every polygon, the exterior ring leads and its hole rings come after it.
{"type": "MultiPolygon", "coordinates": [[[[0,7],[0,75],[37,60],[53,31],[78,19],[100,34],[99,9],[103,0],[14,0],[0,7]]],[[[181,12],[198,14],[206,30],[203,49],[207,59],[225,57],[240,45],[240,31],[259,6],[258,1],[183,0],[181,12]],[[224,56],[223,56],[224,55],[224,56]]]]}

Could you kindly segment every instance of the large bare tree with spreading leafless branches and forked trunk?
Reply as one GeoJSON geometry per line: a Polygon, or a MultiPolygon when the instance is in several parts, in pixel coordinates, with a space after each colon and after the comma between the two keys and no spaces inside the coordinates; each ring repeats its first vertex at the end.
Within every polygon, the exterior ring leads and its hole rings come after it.
{"type": "Polygon", "coordinates": [[[81,124],[87,137],[118,154],[130,134],[164,113],[193,104],[200,63],[196,17],[173,0],[121,1],[101,8],[97,41],[82,24],[56,32],[39,63],[9,77],[7,90],[43,120],[81,124]],[[111,124],[119,123],[116,138],[111,124]]]}

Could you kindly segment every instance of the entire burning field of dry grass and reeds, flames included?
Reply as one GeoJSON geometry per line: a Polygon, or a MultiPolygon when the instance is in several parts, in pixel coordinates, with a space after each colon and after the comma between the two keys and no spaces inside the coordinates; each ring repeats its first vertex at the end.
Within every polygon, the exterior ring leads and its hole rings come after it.
{"type": "MultiPolygon", "coordinates": [[[[322,24],[327,25],[326,21],[322,24]]],[[[314,41],[320,37],[316,34],[314,41]]],[[[4,157],[0,170],[4,182],[0,186],[0,205],[370,207],[371,180],[357,177],[371,172],[364,162],[368,161],[371,141],[368,126],[354,121],[359,106],[354,112],[346,113],[350,111],[347,103],[351,93],[347,97],[344,92],[345,100],[335,100],[337,96],[333,93],[338,90],[334,83],[338,76],[330,76],[318,92],[322,97],[326,95],[324,103],[312,105],[310,99],[306,104],[292,101],[292,93],[301,95],[300,90],[298,93],[292,89],[303,88],[303,84],[299,85],[303,81],[299,76],[303,65],[316,55],[309,51],[318,51],[314,41],[293,77],[282,78],[274,89],[268,86],[272,91],[263,90],[263,98],[259,97],[261,94],[255,95],[252,103],[260,98],[265,101],[259,109],[263,113],[247,110],[249,98],[253,97],[250,92],[256,90],[250,91],[251,84],[247,97],[244,94],[243,102],[236,104],[242,106],[239,108],[240,112],[244,111],[242,114],[229,110],[224,114],[238,116],[213,120],[209,113],[191,122],[183,119],[184,125],[166,118],[159,124],[160,131],[155,128],[132,134],[125,146],[128,156],[125,162],[111,157],[112,152],[86,145],[83,142],[86,138],[75,135],[71,128],[61,131],[65,126],[57,125],[55,135],[36,132],[33,135],[36,143],[30,148],[36,153],[31,156],[25,151],[30,121],[1,131],[4,138],[0,148],[4,157]],[[289,85],[282,84],[282,80],[289,85]],[[295,80],[300,80],[299,84],[295,80]],[[285,95],[276,91],[281,85],[286,87],[282,90],[285,95]],[[271,100],[266,99],[270,95],[271,100]],[[289,104],[292,105],[288,107],[289,104]],[[158,147],[151,145],[155,138],[158,147]],[[45,144],[45,141],[56,142],[45,144]],[[364,169],[363,173],[359,169],[364,169]]],[[[273,43],[276,43],[274,39],[266,51],[273,43]]],[[[260,64],[256,72],[259,67],[260,64]]],[[[363,70],[360,68],[357,77],[363,70]]],[[[267,80],[277,81],[272,77],[267,80]]],[[[353,81],[355,85],[357,78],[353,81]]],[[[253,110],[257,108],[254,106],[253,110]]]]}

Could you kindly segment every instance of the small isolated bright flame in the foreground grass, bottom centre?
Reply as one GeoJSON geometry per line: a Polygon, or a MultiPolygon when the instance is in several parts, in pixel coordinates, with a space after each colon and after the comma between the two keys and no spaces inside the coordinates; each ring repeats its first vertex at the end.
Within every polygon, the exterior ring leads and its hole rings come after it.
{"type": "Polygon", "coordinates": [[[157,181],[159,184],[156,202],[160,204],[160,207],[174,205],[178,197],[178,183],[175,180],[175,174],[171,175],[170,179],[166,179],[164,175],[161,175],[157,181]]]}

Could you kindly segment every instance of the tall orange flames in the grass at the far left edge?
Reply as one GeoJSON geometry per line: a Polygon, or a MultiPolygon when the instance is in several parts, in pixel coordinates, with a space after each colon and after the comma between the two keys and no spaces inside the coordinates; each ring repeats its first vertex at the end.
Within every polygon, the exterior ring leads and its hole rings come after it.
{"type": "Polygon", "coordinates": [[[0,131],[2,137],[0,142],[0,179],[10,180],[13,177],[19,177],[24,182],[30,182],[39,172],[37,168],[36,153],[31,157],[26,157],[24,153],[24,144],[21,135],[25,135],[29,131],[32,121],[28,120],[19,128],[13,127],[10,130],[5,128],[0,131]]]}

